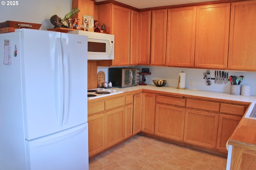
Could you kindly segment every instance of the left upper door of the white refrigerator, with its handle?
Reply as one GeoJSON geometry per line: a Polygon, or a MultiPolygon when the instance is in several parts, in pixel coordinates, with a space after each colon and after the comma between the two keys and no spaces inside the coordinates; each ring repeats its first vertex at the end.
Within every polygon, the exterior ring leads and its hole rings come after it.
{"type": "Polygon", "coordinates": [[[25,138],[30,140],[62,130],[62,50],[59,32],[22,30],[22,97],[25,138]]]}

